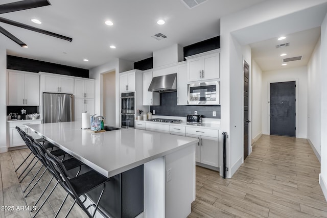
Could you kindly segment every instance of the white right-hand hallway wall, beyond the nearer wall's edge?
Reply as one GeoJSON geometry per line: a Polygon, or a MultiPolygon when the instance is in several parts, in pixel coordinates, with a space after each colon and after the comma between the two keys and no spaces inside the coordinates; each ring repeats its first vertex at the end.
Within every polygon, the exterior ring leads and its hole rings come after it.
{"type": "Polygon", "coordinates": [[[321,157],[321,51],[320,38],[308,63],[308,140],[321,157]]]}

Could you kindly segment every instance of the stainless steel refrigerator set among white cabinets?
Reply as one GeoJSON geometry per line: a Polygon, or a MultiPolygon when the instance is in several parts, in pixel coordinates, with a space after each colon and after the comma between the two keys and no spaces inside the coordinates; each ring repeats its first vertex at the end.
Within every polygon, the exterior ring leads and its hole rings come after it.
{"type": "Polygon", "coordinates": [[[43,93],[43,123],[74,121],[74,95],[43,93]]]}

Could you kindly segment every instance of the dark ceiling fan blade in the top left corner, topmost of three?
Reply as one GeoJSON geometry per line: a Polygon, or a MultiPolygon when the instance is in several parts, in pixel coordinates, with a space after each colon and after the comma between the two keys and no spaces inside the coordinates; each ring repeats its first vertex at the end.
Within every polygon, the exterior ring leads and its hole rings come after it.
{"type": "Polygon", "coordinates": [[[48,0],[24,0],[0,5],[0,14],[51,5],[48,0]]]}

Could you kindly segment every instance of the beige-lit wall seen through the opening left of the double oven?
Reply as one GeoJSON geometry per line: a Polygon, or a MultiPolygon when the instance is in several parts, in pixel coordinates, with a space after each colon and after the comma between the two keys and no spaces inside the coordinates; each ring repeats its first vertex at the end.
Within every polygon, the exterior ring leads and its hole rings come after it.
{"type": "Polygon", "coordinates": [[[103,115],[106,117],[105,124],[115,126],[116,117],[116,84],[115,71],[103,75],[103,115]]]}

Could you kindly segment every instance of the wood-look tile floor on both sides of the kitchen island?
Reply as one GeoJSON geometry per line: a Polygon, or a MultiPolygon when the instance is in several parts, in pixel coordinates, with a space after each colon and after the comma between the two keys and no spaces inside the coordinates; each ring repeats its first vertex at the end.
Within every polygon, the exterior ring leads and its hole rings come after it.
{"type": "MultiPolygon", "coordinates": [[[[0,154],[0,206],[15,207],[14,210],[0,208],[0,217],[31,217],[34,212],[16,210],[16,207],[32,206],[50,180],[46,174],[30,195],[24,197],[22,190],[32,175],[19,183],[17,175],[21,169],[14,171],[28,154],[28,149],[0,154]]],[[[189,217],[327,217],[327,203],[318,183],[319,172],[320,163],[306,139],[263,135],[231,179],[222,179],[218,172],[196,167],[196,200],[189,217]]],[[[53,185],[54,182],[51,188],[53,185]]],[[[36,217],[53,217],[64,195],[65,191],[58,185],[36,217]]],[[[71,203],[68,197],[59,217],[65,215],[71,203]]],[[[86,214],[75,205],[68,217],[86,217],[86,214]]]]}

